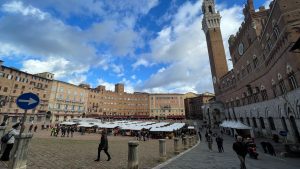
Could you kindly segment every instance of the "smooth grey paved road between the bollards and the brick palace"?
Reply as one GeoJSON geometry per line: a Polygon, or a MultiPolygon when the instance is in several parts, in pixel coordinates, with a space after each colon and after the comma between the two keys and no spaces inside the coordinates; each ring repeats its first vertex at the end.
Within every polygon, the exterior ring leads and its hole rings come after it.
{"type": "MultiPolygon", "coordinates": [[[[203,135],[203,134],[202,134],[203,135]]],[[[239,169],[239,160],[232,150],[233,138],[224,136],[224,153],[218,153],[214,140],[213,151],[208,150],[206,142],[201,142],[194,149],[178,157],[161,169],[239,169]]],[[[248,169],[299,169],[300,159],[280,158],[262,153],[259,159],[246,157],[248,169]]]]}

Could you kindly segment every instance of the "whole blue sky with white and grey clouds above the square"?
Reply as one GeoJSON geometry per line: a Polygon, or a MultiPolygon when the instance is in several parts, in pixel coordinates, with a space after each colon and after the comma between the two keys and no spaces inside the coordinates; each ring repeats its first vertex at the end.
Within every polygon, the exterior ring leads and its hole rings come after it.
{"type": "MultiPolygon", "coordinates": [[[[255,7],[270,0],[254,0],[255,7]]],[[[227,39],[246,0],[217,0],[227,39]]],[[[0,59],[73,84],[127,92],[213,92],[202,0],[1,0],[0,59]]],[[[230,61],[228,61],[230,62],[230,61]]],[[[228,63],[231,67],[231,63],[228,63]]]]}

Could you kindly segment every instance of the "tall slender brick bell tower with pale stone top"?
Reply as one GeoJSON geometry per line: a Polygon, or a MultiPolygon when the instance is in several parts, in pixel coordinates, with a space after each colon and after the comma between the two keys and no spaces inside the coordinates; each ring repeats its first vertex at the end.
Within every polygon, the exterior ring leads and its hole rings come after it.
{"type": "Polygon", "coordinates": [[[206,36],[210,69],[216,96],[220,92],[220,77],[228,72],[223,39],[220,29],[221,16],[216,12],[214,0],[203,0],[202,29],[206,36]]]}

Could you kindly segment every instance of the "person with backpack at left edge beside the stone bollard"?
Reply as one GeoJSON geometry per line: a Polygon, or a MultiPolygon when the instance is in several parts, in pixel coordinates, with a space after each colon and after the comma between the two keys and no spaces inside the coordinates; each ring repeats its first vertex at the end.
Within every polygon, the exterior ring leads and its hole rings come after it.
{"type": "Polygon", "coordinates": [[[15,143],[15,136],[19,135],[19,130],[18,130],[19,127],[20,127],[20,123],[16,123],[15,125],[12,126],[12,129],[8,131],[8,133],[1,138],[2,144],[3,143],[6,144],[5,150],[0,158],[1,161],[9,161],[10,151],[13,148],[15,143]],[[6,138],[4,139],[4,137],[6,138]]]}

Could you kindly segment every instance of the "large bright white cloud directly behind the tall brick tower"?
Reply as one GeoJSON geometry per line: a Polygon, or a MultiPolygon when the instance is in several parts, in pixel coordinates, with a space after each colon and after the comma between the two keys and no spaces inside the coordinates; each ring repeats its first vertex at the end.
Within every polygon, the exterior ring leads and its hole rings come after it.
{"type": "MultiPolygon", "coordinates": [[[[148,55],[152,56],[152,61],[168,66],[152,74],[138,85],[138,89],[179,93],[213,91],[206,38],[201,29],[201,5],[202,1],[186,2],[178,9],[172,24],[164,27],[150,42],[152,52],[148,55]]],[[[230,34],[235,34],[242,22],[242,7],[222,8],[220,12],[224,46],[228,48],[227,39],[230,34]]]]}

